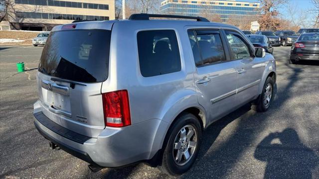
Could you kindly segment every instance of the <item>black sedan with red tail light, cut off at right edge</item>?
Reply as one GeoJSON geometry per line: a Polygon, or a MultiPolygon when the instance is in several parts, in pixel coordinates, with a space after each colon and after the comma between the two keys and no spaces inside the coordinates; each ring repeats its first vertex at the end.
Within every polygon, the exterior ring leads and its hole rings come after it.
{"type": "Polygon", "coordinates": [[[289,63],[300,60],[319,60],[319,33],[303,33],[293,44],[289,63]]]}

